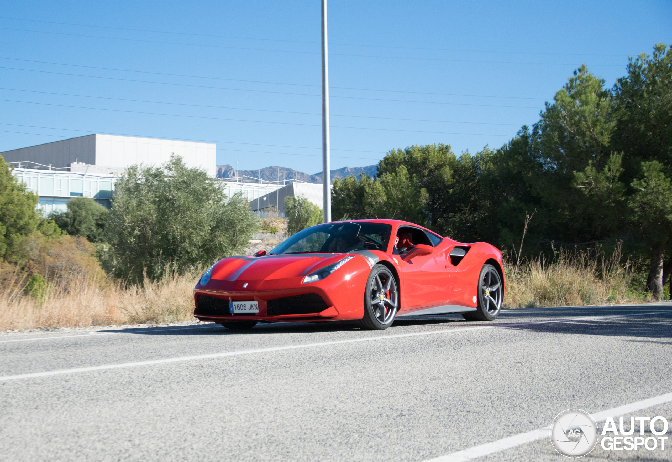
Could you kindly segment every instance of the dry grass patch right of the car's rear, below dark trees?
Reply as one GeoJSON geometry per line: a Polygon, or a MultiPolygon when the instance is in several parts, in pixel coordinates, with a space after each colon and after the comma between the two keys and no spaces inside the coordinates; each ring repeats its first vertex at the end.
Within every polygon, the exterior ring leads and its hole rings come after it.
{"type": "Polygon", "coordinates": [[[630,291],[636,264],[622,262],[620,245],[611,256],[560,250],[554,260],[534,258],[521,264],[505,262],[507,290],[504,307],[581,306],[642,301],[630,291]]]}

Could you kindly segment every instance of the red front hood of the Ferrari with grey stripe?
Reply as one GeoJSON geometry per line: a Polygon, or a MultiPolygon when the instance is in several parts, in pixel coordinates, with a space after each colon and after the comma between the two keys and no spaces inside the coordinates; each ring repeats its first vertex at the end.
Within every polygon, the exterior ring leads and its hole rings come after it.
{"type": "Polygon", "coordinates": [[[305,276],[313,268],[337,262],[347,254],[268,255],[228,257],[212,268],[213,280],[271,280],[305,276]]]}

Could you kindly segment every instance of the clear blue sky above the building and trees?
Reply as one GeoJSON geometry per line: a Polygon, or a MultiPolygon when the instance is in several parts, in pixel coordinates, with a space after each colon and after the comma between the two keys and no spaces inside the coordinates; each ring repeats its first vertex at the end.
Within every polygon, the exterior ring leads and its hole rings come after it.
{"type": "MultiPolygon", "coordinates": [[[[0,151],[99,132],[321,171],[319,0],[4,5],[0,151]]],[[[332,168],[499,147],[581,63],[611,86],[672,42],[669,1],[331,0],[328,17],[332,168]]]]}

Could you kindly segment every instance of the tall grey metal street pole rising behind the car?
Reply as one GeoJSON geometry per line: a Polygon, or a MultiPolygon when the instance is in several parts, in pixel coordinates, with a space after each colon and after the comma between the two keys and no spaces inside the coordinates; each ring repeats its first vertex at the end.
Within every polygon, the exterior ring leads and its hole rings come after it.
{"type": "Polygon", "coordinates": [[[331,161],[329,159],[329,62],[327,59],[327,0],[322,4],[322,200],[325,223],[331,221],[331,161]]]}

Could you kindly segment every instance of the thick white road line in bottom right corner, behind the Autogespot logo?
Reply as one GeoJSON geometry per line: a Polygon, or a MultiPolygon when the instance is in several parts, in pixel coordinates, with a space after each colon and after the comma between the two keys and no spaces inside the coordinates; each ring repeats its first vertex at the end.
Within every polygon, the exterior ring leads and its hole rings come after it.
{"type": "MultiPolygon", "coordinates": [[[[630,403],[626,404],[625,406],[619,406],[618,408],[597,412],[595,414],[591,414],[591,416],[593,416],[597,422],[601,422],[606,420],[609,416],[623,416],[624,414],[630,414],[632,412],[650,408],[652,406],[657,406],[669,401],[672,401],[672,393],[667,393],[665,395],[660,395],[649,399],[643,399],[642,401],[637,401],[636,403],[630,403]]],[[[464,449],[464,451],[442,455],[435,457],[434,459],[427,459],[424,462],[470,461],[472,459],[478,459],[478,457],[499,453],[499,451],[504,451],[505,449],[511,449],[517,446],[525,445],[528,442],[540,440],[542,438],[550,438],[550,426],[537,428],[531,432],[519,433],[514,436],[509,436],[508,438],[502,438],[501,440],[487,442],[485,445],[474,446],[469,449],[464,449]]]]}

